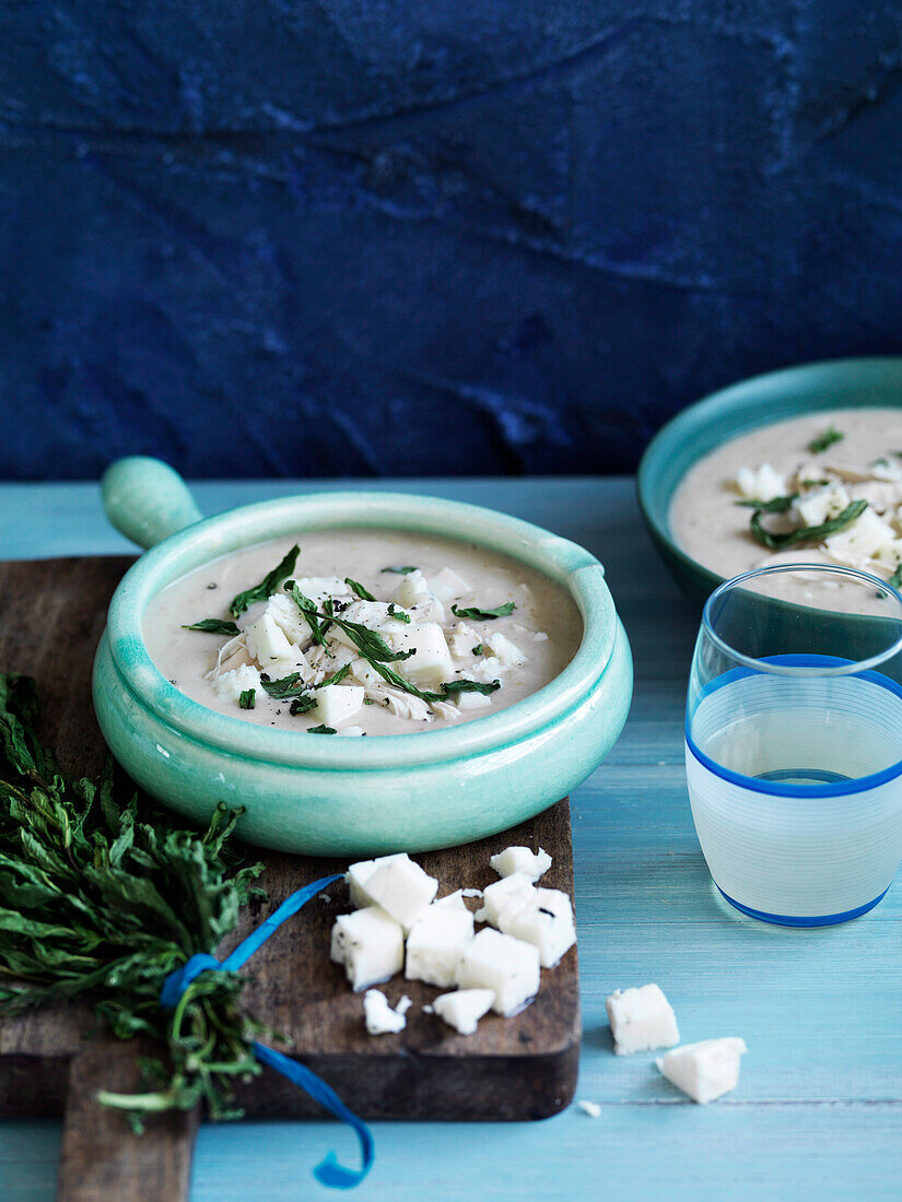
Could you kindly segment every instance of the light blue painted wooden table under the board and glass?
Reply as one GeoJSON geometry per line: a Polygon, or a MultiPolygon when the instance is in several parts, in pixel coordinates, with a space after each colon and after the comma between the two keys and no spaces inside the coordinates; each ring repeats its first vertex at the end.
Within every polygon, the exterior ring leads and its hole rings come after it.
{"type": "MultiPolygon", "coordinates": [[[[495,506],[589,547],[607,565],[636,689],[619,743],[572,796],[584,1024],[577,1097],[599,1102],[601,1117],[574,1106],[539,1124],[376,1124],[376,1164],[357,1196],[901,1197],[902,888],[856,922],[805,932],[742,918],[714,897],[683,778],[683,696],[698,619],[645,536],[633,482],[393,487],[495,506]],[[746,1039],[734,1094],[694,1106],[651,1057],[612,1055],[605,995],[648,981],[666,992],[684,1041],[746,1039]]],[[[196,495],[213,513],[299,490],[207,483],[196,495]]],[[[94,486],[0,486],[1,558],[127,549],[106,525],[94,486]]],[[[59,1138],[55,1123],[0,1124],[4,1202],[53,1196],[59,1138]]],[[[356,1154],[331,1123],[207,1124],[191,1197],[326,1196],[310,1166],[332,1147],[356,1154]]]]}

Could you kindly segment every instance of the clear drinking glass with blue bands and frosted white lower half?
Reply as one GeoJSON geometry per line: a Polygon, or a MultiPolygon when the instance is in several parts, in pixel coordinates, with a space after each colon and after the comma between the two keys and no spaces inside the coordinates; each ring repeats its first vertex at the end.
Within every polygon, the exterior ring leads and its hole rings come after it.
{"type": "Polygon", "coordinates": [[[708,599],[686,773],[714,883],[754,918],[818,927],[877,905],[902,859],[902,596],[793,564],[708,599]]]}

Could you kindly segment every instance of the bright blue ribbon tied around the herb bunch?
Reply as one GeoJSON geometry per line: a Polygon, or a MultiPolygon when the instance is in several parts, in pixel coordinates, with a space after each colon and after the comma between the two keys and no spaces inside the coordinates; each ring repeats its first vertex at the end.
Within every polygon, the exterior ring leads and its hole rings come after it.
{"type": "MultiPolygon", "coordinates": [[[[183,964],[180,969],[176,969],[174,972],[170,972],[164,981],[162,989],[160,990],[160,1001],[162,1005],[167,1010],[173,1010],[178,1005],[182,994],[201,972],[206,972],[209,969],[222,972],[237,971],[250,959],[259,947],[262,947],[286,918],[296,915],[301,906],[309,902],[311,897],[315,897],[320,889],[325,889],[327,885],[340,880],[340,875],[324,876],[321,880],[314,881],[313,885],[308,885],[305,888],[292,893],[281,903],[278,910],[269,915],[266,922],[261,923],[243,942],[238,944],[235,951],[226,956],[224,960],[218,960],[215,956],[207,956],[203,952],[192,956],[186,964],[183,964]]],[[[355,1185],[358,1185],[369,1172],[375,1159],[373,1136],[366,1123],[358,1119],[352,1111],[348,1109],[334,1089],[327,1085],[315,1072],[311,1072],[307,1065],[299,1064],[297,1060],[292,1060],[290,1057],[283,1055],[281,1052],[275,1052],[263,1043],[254,1043],[254,1054],[261,1064],[268,1064],[271,1069],[275,1069],[277,1072],[287,1077],[295,1085],[299,1085],[304,1093],[330,1111],[330,1113],[334,1114],[336,1118],[342,1119],[343,1123],[354,1127],[361,1144],[362,1168],[345,1168],[338,1164],[334,1152],[330,1152],[326,1159],[314,1168],[313,1174],[321,1185],[328,1185],[336,1190],[350,1190],[355,1185]]]]}

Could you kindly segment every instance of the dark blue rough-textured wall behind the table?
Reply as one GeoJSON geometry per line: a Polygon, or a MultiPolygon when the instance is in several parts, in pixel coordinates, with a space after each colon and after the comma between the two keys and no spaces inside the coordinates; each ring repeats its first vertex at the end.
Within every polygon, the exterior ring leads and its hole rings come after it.
{"type": "Polygon", "coordinates": [[[0,476],[627,470],[902,350],[902,2],[18,0],[0,476]]]}

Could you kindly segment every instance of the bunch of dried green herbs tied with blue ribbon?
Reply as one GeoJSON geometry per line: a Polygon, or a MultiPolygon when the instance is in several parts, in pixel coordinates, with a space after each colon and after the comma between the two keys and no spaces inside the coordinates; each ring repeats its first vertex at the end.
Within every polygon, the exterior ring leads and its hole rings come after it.
{"type": "Polygon", "coordinates": [[[213,1118],[237,1117],[231,1084],[260,1071],[244,978],[206,972],[172,1011],[160,989],[190,956],[215,953],[262,895],[251,886],[262,864],[239,867],[230,845],[239,811],[220,808],[200,832],[137,796],[117,801],[109,766],[97,781],[61,772],[37,718],[34,680],[0,674],[0,1014],[79,999],[119,1039],[158,1041],[148,1093],[99,1095],[137,1126],[202,1099],[213,1118]]]}

